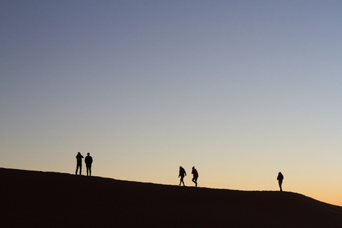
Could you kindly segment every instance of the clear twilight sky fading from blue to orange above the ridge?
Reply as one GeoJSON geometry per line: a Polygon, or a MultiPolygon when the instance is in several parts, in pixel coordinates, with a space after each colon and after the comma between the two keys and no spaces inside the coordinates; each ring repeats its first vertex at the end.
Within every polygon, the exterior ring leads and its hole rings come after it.
{"type": "Polygon", "coordinates": [[[342,206],[342,1],[0,1],[0,167],[342,206]],[[86,173],[83,164],[83,174],[86,173]]]}

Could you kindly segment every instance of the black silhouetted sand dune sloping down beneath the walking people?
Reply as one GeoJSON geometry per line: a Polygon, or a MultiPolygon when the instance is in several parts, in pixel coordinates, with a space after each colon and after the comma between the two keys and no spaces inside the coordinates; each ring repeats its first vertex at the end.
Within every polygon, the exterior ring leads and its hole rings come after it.
{"type": "Polygon", "coordinates": [[[4,168],[0,182],[1,227],[342,227],[342,207],[293,192],[179,187],[4,168]]]}

